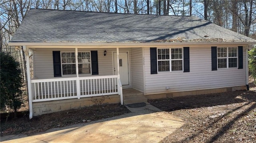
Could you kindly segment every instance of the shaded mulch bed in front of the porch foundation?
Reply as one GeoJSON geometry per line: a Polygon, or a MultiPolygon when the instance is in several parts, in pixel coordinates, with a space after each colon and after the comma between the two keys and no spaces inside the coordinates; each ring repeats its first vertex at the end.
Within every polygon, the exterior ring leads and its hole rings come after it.
{"type": "Polygon", "coordinates": [[[17,119],[1,119],[1,136],[10,134],[31,135],[53,127],[64,127],[76,123],[110,118],[130,111],[120,104],[94,105],[86,108],[43,114],[29,119],[28,114],[17,119]]]}

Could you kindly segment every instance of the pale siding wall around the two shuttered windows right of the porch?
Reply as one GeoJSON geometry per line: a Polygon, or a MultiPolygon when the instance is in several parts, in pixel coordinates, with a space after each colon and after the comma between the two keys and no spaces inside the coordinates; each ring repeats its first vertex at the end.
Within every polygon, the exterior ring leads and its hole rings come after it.
{"type": "Polygon", "coordinates": [[[144,48],[144,55],[146,94],[246,85],[245,48],[243,69],[218,71],[212,71],[211,47],[190,47],[190,72],[150,74],[150,48],[144,48]],[[166,90],[166,87],[170,89],[166,90]]]}

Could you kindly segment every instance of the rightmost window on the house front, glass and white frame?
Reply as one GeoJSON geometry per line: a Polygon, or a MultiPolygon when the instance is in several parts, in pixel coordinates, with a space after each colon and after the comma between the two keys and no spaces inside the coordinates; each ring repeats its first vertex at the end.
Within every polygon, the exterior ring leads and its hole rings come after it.
{"type": "Polygon", "coordinates": [[[218,68],[233,68],[238,66],[237,47],[218,47],[218,68]]]}

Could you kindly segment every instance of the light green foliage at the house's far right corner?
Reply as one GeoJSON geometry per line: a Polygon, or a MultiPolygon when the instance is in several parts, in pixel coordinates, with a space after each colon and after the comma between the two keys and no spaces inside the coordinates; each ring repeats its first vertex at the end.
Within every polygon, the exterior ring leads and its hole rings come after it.
{"type": "Polygon", "coordinates": [[[248,58],[249,58],[249,71],[252,78],[254,78],[254,82],[256,82],[255,81],[256,79],[256,47],[255,46],[248,52],[248,58]]]}

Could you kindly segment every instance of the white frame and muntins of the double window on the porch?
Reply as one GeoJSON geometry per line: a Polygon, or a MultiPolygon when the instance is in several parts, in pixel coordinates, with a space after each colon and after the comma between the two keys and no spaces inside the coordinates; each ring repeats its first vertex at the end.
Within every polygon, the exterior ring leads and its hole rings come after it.
{"type": "MultiPolygon", "coordinates": [[[[66,52],[60,52],[60,63],[61,63],[61,75],[62,76],[71,76],[71,75],[76,75],[76,74],[63,74],[63,69],[62,69],[62,53],[75,53],[73,51],[66,51],[66,52]]],[[[92,57],[91,57],[91,52],[90,51],[79,51],[78,53],[89,53],[90,54],[90,75],[92,75],[92,57]]],[[[76,57],[76,53],[75,53],[75,59],[78,60],[78,57],[76,57]]],[[[68,64],[75,64],[76,63],[64,63],[66,65],[68,64]]],[[[78,64],[88,64],[88,63],[78,63],[78,64]]],[[[78,73],[79,74],[79,73],[78,73]]],[[[79,75],[89,75],[89,74],[79,74],[79,75]]]]}

